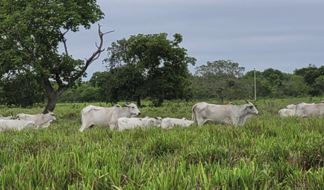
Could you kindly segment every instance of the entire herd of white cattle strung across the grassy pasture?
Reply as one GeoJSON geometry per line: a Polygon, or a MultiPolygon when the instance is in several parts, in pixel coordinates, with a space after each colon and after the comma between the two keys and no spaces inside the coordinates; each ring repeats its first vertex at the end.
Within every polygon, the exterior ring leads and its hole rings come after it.
{"type": "MultiPolygon", "coordinates": [[[[212,103],[196,103],[192,107],[192,120],[187,118],[161,118],[145,117],[137,118],[141,112],[134,103],[126,104],[125,107],[116,104],[115,106],[104,108],[89,105],[81,110],[80,132],[93,126],[110,127],[110,129],[134,129],[136,127],[162,127],[163,129],[172,128],[175,125],[189,127],[194,122],[202,127],[205,124],[225,124],[242,126],[247,118],[258,115],[258,110],[253,103],[246,101],[246,104],[237,106],[230,102],[226,105],[216,105],[212,103]]],[[[299,103],[290,104],[279,110],[278,114],[282,117],[288,116],[323,116],[324,101],[320,103],[299,103]]],[[[49,127],[50,122],[56,120],[53,112],[36,115],[20,113],[13,116],[3,117],[0,115],[0,132],[5,129],[22,130],[25,128],[40,129],[49,127]]]]}

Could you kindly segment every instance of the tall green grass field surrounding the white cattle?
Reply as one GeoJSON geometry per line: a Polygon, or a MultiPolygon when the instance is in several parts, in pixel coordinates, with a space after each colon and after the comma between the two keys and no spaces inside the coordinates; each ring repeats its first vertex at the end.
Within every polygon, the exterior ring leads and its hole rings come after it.
{"type": "MultiPolygon", "coordinates": [[[[0,186],[6,190],[324,189],[323,119],[278,117],[278,110],[287,104],[320,101],[258,101],[260,115],[249,118],[243,127],[193,125],[123,132],[94,127],[83,133],[80,110],[100,104],[58,104],[54,110],[58,120],[48,128],[0,133],[0,186]]],[[[142,118],[191,119],[194,103],[166,102],[162,108],[139,110],[142,118]]],[[[1,108],[0,114],[37,114],[42,109],[1,108]]]]}

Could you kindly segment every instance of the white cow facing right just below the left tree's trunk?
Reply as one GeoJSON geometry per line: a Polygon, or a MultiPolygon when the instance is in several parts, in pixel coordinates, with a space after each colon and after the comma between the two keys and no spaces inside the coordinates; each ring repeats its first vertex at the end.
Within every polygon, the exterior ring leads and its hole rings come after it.
{"type": "Polygon", "coordinates": [[[34,121],[37,129],[38,128],[46,128],[46,127],[49,127],[50,122],[52,122],[53,120],[56,120],[55,114],[49,110],[47,110],[47,111],[49,113],[46,113],[46,114],[38,113],[36,115],[20,113],[15,118],[20,119],[20,120],[34,121]]]}

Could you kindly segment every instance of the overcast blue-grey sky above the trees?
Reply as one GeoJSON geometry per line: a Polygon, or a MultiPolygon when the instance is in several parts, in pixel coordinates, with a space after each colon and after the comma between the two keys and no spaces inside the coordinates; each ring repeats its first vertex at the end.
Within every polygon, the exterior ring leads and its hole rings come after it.
{"type": "MultiPolygon", "coordinates": [[[[197,58],[190,72],[207,61],[232,60],[245,71],[275,68],[292,73],[309,63],[324,65],[323,0],[98,0],[105,13],[104,47],[133,34],[180,33],[189,56],[197,58]]],[[[68,32],[73,58],[89,58],[99,42],[98,26],[68,32]]],[[[60,46],[59,52],[63,52],[60,46]]],[[[103,71],[104,51],[87,69],[103,71]]]]}

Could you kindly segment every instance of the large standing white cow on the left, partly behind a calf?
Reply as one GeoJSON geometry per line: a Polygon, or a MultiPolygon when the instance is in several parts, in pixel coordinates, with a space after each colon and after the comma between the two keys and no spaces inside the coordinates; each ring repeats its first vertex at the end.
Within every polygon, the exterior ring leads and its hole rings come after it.
{"type": "Polygon", "coordinates": [[[116,128],[118,118],[135,118],[138,115],[141,115],[141,112],[134,103],[126,104],[124,108],[118,104],[109,108],[89,105],[81,111],[80,132],[93,125],[110,127],[113,130],[116,128]]]}

